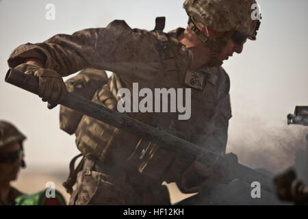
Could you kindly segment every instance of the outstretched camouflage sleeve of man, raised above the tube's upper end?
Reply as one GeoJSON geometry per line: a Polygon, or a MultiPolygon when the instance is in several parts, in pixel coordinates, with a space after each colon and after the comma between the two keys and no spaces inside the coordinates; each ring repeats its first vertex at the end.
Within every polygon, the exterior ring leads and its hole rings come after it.
{"type": "Polygon", "coordinates": [[[121,75],[138,63],[153,66],[159,58],[156,43],[151,32],[131,29],[125,21],[116,20],[105,28],[57,34],[42,43],[23,44],[12,52],[8,64],[15,67],[36,58],[44,61],[44,68],[56,70],[62,76],[86,67],[121,75]]]}

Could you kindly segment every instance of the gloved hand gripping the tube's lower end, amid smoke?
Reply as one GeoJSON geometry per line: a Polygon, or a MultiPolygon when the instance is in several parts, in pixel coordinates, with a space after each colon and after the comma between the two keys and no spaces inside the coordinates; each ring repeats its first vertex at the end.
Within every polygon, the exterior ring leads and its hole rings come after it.
{"type": "Polygon", "coordinates": [[[209,179],[227,184],[235,179],[233,172],[235,164],[238,164],[238,156],[233,153],[219,156],[212,166],[195,161],[181,178],[181,191],[185,193],[200,192],[209,179]]]}

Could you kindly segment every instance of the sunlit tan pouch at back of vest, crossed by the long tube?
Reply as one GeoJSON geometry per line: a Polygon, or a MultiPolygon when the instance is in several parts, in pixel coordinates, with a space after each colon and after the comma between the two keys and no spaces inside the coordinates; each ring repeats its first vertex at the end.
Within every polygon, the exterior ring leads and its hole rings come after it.
{"type": "MultiPolygon", "coordinates": [[[[111,110],[116,110],[118,103],[109,84],[97,90],[92,101],[111,110]]],[[[125,165],[129,153],[138,142],[136,135],[86,115],[82,116],[75,134],[77,148],[83,155],[118,166],[125,165]]]]}

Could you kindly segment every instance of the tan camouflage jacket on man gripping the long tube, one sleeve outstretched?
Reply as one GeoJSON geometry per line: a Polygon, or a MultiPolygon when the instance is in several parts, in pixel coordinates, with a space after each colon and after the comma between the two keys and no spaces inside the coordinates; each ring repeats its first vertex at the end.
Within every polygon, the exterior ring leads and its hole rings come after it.
{"type": "MultiPolygon", "coordinates": [[[[42,43],[23,44],[12,52],[8,64],[15,67],[26,58],[36,58],[44,60],[44,68],[56,70],[62,76],[86,67],[110,70],[115,74],[108,86],[116,100],[120,88],[128,88],[132,93],[133,82],[138,82],[139,89],[192,88],[189,120],[177,120],[175,113],[149,113],[145,122],[224,154],[231,118],[229,76],[222,67],[203,67],[196,69],[207,75],[201,90],[185,83],[192,53],[177,40],[182,31],[177,29],[163,34],[131,29],[125,21],[113,21],[105,28],[84,29],[72,35],[58,34],[42,43]]],[[[144,121],[140,113],[129,113],[129,116],[144,121]]],[[[148,165],[149,175],[153,175],[155,169],[161,171],[154,178],[179,180],[189,162],[182,162],[177,156],[159,149],[155,156],[150,156],[154,168],[148,165]]],[[[123,159],[119,157],[120,160],[123,159]]]]}

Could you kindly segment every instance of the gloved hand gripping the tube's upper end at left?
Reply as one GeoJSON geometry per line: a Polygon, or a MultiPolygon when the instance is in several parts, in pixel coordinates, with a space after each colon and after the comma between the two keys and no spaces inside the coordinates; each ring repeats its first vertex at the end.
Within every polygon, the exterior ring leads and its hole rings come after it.
{"type": "Polygon", "coordinates": [[[27,75],[38,77],[38,96],[42,101],[48,101],[48,108],[52,109],[62,100],[67,93],[65,83],[58,73],[48,68],[40,68],[31,64],[20,64],[16,70],[21,70],[27,75]]]}

